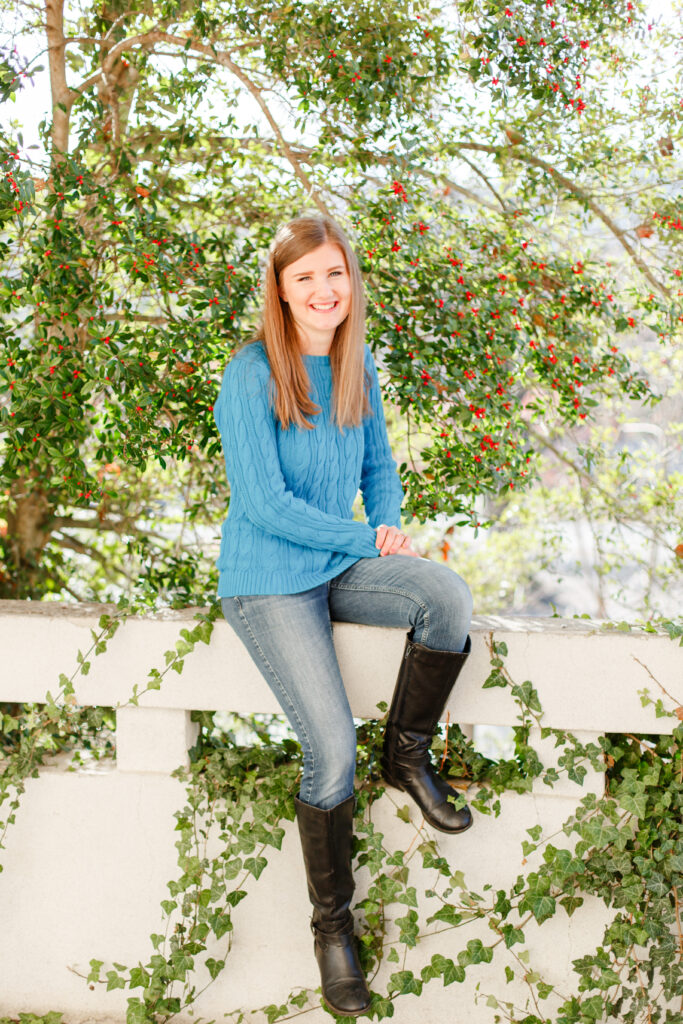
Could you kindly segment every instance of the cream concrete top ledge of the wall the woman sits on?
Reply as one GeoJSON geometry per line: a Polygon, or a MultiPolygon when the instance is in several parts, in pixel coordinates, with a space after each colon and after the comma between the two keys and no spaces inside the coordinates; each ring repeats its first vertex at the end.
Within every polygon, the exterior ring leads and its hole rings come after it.
{"type": "MultiPolygon", "coordinates": [[[[41,701],[58,689],[59,673],[71,677],[77,651],[90,647],[90,630],[109,605],[0,601],[0,700],[41,701]]],[[[129,618],[90,658],[87,676],[74,682],[80,703],[126,703],[151,669],[163,671],[164,651],[174,649],[180,630],[194,625],[185,608],[129,618]]],[[[348,623],[334,625],[334,639],[353,714],[377,717],[389,700],[405,632],[348,623]]],[[[589,732],[670,732],[675,719],[655,718],[640,691],[663,696],[658,684],[683,705],[683,648],[666,635],[623,633],[585,620],[483,615],[472,625],[472,654],[446,707],[451,721],[469,725],[515,725],[518,710],[508,690],[482,689],[493,641],[508,646],[513,680],[530,680],[544,710],[543,724],[589,732]]],[[[220,617],[211,643],[199,643],[180,675],[169,672],[161,690],[140,698],[145,708],[278,713],[280,706],[228,624],[220,617]]],[[[667,701],[667,707],[673,707],[667,701]]]]}

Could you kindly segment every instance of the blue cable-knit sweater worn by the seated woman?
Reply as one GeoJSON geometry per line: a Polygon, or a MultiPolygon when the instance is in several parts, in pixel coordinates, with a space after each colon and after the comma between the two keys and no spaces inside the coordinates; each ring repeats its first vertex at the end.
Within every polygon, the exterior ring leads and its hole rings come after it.
{"type": "Polygon", "coordinates": [[[317,587],[359,558],[377,558],[375,529],[400,526],[403,490],[384,421],[372,351],[365,365],[373,415],[343,433],[330,420],[329,355],[304,355],[310,395],[321,412],[312,430],[283,430],[268,398],[270,366],[262,342],[230,359],[214,418],[230,484],[221,530],[218,597],[294,594],[317,587]],[[362,493],[368,522],[352,518],[362,493]]]}

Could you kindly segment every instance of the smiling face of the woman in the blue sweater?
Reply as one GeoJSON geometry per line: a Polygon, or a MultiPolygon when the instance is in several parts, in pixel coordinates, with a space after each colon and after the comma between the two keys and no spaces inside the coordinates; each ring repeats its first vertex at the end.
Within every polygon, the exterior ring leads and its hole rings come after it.
{"type": "Polygon", "coordinates": [[[351,308],[351,280],[339,246],[325,242],[290,263],[280,274],[278,291],[289,305],[302,352],[327,355],[351,308]]]}

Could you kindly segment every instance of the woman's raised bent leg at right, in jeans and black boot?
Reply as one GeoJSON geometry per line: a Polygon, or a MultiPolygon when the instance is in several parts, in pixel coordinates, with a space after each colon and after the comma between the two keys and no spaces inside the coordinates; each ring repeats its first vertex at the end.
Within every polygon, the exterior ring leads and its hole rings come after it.
{"type": "Polygon", "coordinates": [[[412,627],[389,709],[382,773],[410,793],[434,828],[464,831],[472,815],[468,807],[454,807],[455,794],[434,771],[429,748],[470,650],[467,585],[435,562],[388,555],[355,562],[331,581],[330,594],[334,618],[412,627]]]}

